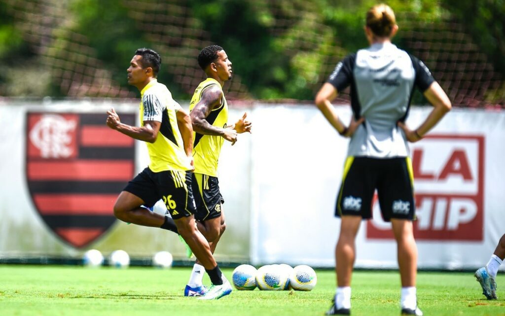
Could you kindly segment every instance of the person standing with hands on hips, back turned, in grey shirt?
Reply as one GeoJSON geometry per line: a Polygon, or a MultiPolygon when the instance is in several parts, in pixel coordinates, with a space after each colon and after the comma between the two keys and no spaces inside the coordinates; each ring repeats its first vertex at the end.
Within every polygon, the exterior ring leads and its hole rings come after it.
{"type": "Polygon", "coordinates": [[[370,47],[346,56],[321,87],[315,103],[330,124],[350,137],[335,214],[341,218],[335,247],[337,289],[327,315],[349,314],[355,239],[362,219],[371,218],[377,189],[384,220],[391,221],[397,243],[401,278],[401,314],[422,315],[417,307],[417,247],[412,164],[408,142],[421,140],[451,108],[451,103],[428,68],[398,49],[391,38],[398,30],[393,11],[376,5],[366,14],[370,47]],[[350,85],[352,119],[346,127],[331,101],[350,85]],[[414,87],[433,110],[411,130],[405,125],[414,87]]]}

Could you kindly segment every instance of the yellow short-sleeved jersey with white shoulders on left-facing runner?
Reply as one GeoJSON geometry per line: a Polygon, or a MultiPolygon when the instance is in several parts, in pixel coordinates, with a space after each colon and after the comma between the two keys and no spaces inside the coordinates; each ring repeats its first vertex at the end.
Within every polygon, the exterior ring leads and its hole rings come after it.
{"type": "Polygon", "coordinates": [[[150,164],[154,172],[167,170],[190,170],[191,162],[184,152],[181,133],[177,126],[177,112],[181,106],[172,99],[165,84],[158,80],[149,82],[140,92],[140,124],[144,121],[161,122],[156,142],[147,143],[150,164]]]}

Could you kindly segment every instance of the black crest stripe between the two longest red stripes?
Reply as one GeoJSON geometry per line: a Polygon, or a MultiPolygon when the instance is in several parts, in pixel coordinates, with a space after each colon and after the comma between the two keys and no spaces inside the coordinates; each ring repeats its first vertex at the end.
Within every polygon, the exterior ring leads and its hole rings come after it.
{"type": "Polygon", "coordinates": [[[99,193],[119,194],[126,182],[98,181],[30,181],[30,192],[40,193],[99,193]]]}

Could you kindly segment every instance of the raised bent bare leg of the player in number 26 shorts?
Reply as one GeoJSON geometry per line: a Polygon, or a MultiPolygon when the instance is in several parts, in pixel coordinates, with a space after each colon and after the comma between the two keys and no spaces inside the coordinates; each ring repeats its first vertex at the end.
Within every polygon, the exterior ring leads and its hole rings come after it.
{"type": "Polygon", "coordinates": [[[165,216],[140,207],[143,204],[144,201],[138,196],[122,191],[114,204],[114,216],[132,224],[161,227],[165,222],[165,216]]]}

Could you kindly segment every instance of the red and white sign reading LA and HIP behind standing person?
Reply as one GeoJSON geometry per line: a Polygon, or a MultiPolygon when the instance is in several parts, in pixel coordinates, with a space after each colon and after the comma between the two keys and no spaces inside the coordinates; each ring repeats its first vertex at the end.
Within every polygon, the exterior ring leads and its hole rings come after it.
{"type": "MultiPolygon", "coordinates": [[[[411,144],[411,149],[416,239],[482,241],[484,137],[433,135],[411,144]]],[[[367,239],[393,239],[391,224],[382,220],[376,199],[372,213],[367,239]]]]}

